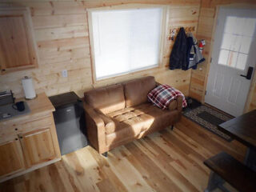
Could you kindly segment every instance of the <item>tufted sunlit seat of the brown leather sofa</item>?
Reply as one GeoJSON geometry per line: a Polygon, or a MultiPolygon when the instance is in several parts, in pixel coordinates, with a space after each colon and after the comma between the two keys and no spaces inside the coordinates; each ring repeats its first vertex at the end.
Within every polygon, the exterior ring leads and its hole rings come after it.
{"type": "Polygon", "coordinates": [[[170,126],[178,118],[177,110],[161,110],[146,102],[138,106],[106,114],[113,119],[114,129],[106,131],[106,145],[134,138],[143,131],[158,130],[158,127],[170,126]]]}

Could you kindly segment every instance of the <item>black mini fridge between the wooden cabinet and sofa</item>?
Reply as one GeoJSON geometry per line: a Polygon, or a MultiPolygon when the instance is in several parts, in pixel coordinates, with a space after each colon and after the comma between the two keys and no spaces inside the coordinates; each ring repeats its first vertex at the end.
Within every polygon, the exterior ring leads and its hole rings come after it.
{"type": "Polygon", "coordinates": [[[85,114],[78,95],[58,94],[50,97],[50,102],[55,107],[54,122],[62,155],[87,146],[85,114]]]}

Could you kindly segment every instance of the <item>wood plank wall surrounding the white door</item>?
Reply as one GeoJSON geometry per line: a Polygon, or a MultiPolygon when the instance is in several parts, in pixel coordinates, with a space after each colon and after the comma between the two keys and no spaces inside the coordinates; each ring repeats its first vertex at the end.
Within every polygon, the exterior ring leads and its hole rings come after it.
{"type": "MultiPolygon", "coordinates": [[[[256,5],[256,0],[202,0],[200,6],[200,14],[198,21],[198,39],[205,39],[204,56],[206,62],[199,64],[198,70],[192,70],[190,81],[190,97],[204,102],[204,94],[206,90],[206,81],[210,69],[211,42],[214,41],[214,18],[218,6],[251,6],[256,5]],[[240,5],[239,5],[240,4],[240,5]],[[199,70],[202,68],[202,70],[199,70]]],[[[256,109],[256,75],[251,84],[250,95],[247,101],[246,111],[256,109]]]]}

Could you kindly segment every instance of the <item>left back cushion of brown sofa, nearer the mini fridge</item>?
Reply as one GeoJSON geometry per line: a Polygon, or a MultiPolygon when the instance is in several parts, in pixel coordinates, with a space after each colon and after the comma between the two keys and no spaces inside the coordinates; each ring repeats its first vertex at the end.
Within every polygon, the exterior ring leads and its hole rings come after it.
{"type": "Polygon", "coordinates": [[[104,86],[85,92],[86,102],[103,114],[125,108],[126,102],[121,84],[104,86]]]}

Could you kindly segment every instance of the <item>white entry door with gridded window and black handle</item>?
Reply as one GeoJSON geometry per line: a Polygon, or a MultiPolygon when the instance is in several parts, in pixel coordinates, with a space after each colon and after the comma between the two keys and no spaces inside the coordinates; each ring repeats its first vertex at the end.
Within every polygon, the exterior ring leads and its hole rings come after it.
{"type": "Polygon", "coordinates": [[[253,78],[241,74],[255,67],[255,26],[254,9],[219,9],[205,102],[235,117],[243,113],[253,78]]]}

